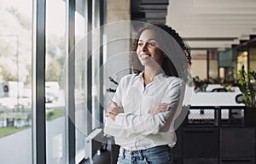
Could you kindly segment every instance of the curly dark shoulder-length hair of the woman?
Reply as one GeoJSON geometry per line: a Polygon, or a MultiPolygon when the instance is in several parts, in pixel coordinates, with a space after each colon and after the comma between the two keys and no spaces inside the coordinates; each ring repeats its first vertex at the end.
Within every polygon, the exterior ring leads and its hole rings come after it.
{"type": "Polygon", "coordinates": [[[137,31],[137,35],[131,43],[131,52],[133,53],[130,56],[130,65],[134,73],[138,75],[144,70],[143,65],[137,57],[136,50],[138,39],[145,30],[152,30],[160,36],[160,43],[163,45],[160,50],[165,54],[165,59],[163,59],[161,67],[166,76],[177,76],[181,78],[188,76],[188,70],[191,65],[189,46],[183,42],[183,39],[172,27],[158,23],[144,25],[137,31]]]}

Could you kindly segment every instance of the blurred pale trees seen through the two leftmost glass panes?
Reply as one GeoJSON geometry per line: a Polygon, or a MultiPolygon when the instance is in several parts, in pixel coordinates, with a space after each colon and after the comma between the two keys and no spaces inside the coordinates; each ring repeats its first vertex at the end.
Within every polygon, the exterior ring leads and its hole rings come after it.
{"type": "MultiPolygon", "coordinates": [[[[31,87],[32,77],[32,20],[27,15],[22,14],[19,9],[0,8],[5,19],[1,20],[1,33],[16,31],[14,35],[0,36],[0,82],[21,81],[25,87],[31,87]],[[17,22],[9,25],[11,22],[17,22]],[[29,42],[29,43],[25,43],[29,42]]],[[[61,84],[62,67],[65,62],[65,38],[61,36],[49,35],[46,38],[46,74],[45,80],[49,82],[59,82],[61,84]]]]}

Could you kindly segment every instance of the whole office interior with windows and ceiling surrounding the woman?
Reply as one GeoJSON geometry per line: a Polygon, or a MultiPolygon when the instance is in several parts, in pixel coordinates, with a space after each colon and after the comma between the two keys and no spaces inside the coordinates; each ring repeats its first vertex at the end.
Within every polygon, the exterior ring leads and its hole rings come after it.
{"type": "Polygon", "coordinates": [[[0,0],[0,163],[116,163],[105,110],[114,82],[131,73],[136,25],[153,22],[172,26],[192,54],[174,163],[256,163],[256,123],[236,99],[238,72],[256,71],[255,8],[254,0],[0,0]]]}

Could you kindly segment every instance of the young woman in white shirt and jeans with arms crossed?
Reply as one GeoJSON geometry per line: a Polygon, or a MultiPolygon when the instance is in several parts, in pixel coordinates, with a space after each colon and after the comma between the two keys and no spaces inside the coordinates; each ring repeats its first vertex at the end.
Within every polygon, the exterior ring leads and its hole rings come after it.
{"type": "Polygon", "coordinates": [[[182,107],[189,48],[171,27],[150,24],[137,32],[134,50],[135,74],[120,80],[104,132],[120,145],[119,164],[171,164],[177,140],[173,122],[182,107]]]}

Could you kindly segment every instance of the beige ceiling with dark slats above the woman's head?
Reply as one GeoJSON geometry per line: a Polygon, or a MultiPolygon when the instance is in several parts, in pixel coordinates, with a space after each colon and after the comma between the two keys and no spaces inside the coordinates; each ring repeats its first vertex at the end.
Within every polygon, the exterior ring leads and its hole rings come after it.
{"type": "Polygon", "coordinates": [[[131,0],[131,20],[172,26],[194,49],[231,48],[256,35],[255,0],[131,0]]]}

